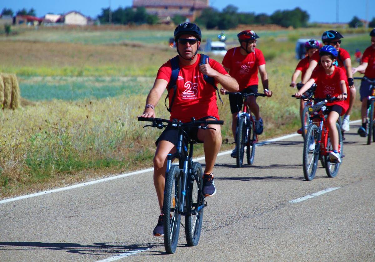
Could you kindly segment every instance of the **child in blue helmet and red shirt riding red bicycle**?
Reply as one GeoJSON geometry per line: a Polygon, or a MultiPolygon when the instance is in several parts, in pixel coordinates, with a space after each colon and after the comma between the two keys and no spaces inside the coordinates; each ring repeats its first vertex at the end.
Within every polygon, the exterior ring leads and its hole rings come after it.
{"type": "Polygon", "coordinates": [[[333,151],[330,152],[329,158],[341,162],[341,156],[338,153],[339,149],[339,134],[336,128],[336,122],[340,115],[348,110],[349,103],[344,101],[348,98],[347,94],[347,76],[344,70],[336,67],[334,64],[338,57],[336,48],[330,45],[325,45],[319,51],[321,67],[318,67],[300,91],[296,93],[296,97],[301,97],[314,83],[317,83],[315,91],[316,98],[326,98],[327,95],[337,97],[339,101],[327,103],[328,109],[328,128],[329,136],[332,141],[333,151]]]}

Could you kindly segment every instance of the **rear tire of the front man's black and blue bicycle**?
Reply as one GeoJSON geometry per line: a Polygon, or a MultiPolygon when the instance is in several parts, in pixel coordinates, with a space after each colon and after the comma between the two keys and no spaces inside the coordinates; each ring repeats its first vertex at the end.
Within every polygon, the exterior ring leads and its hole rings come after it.
{"type": "Polygon", "coordinates": [[[202,166],[194,162],[192,174],[189,174],[189,188],[187,190],[186,211],[194,210],[196,215],[186,213],[185,215],[185,236],[187,245],[192,247],[198,245],[202,230],[204,196],[202,195],[202,166]],[[203,206],[202,206],[203,205],[203,206]]]}

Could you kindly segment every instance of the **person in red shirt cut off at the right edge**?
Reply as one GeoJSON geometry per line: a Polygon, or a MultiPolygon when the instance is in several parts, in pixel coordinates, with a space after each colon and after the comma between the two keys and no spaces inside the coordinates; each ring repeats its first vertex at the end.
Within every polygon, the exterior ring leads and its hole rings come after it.
{"type": "MultiPolygon", "coordinates": [[[[362,56],[362,64],[358,67],[353,67],[353,74],[357,71],[365,71],[365,76],[368,77],[370,80],[375,80],[375,28],[370,32],[371,36],[371,46],[366,48],[365,52],[362,56]]],[[[370,94],[370,83],[366,80],[362,80],[361,87],[359,89],[359,93],[361,95],[361,116],[362,116],[362,127],[359,128],[358,134],[361,137],[366,136],[366,127],[367,127],[367,108],[368,108],[368,96],[370,94]]]]}

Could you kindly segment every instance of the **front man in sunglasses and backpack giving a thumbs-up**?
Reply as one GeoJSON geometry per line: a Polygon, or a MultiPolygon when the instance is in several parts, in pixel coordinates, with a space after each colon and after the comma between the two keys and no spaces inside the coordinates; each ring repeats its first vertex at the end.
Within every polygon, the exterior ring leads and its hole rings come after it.
{"type": "MultiPolygon", "coordinates": [[[[146,106],[142,117],[154,118],[154,107],[159,102],[164,90],[168,90],[169,108],[171,119],[190,122],[191,118],[218,120],[219,114],[216,104],[216,91],[211,83],[204,80],[204,75],[213,77],[215,83],[220,83],[226,89],[236,92],[239,89],[237,81],[229,76],[220,63],[206,59],[199,63],[200,54],[197,54],[201,44],[201,30],[192,23],[178,25],[174,30],[174,40],[178,53],[178,77],[175,88],[168,88],[171,84],[172,64],[168,60],[163,64],[156,76],[153,87],[146,99],[146,106]]],[[[220,125],[208,125],[212,129],[202,130],[193,128],[189,135],[199,143],[203,143],[205,156],[205,170],[203,175],[202,193],[212,196],[216,193],[213,180],[213,167],[219,152],[222,138],[220,125]]],[[[160,213],[163,210],[166,159],[169,153],[176,151],[178,130],[171,126],[165,128],[156,140],[154,164],[154,186],[159,202],[160,213]]],[[[160,214],[158,223],[154,228],[155,236],[163,236],[163,216],[160,214]]]]}

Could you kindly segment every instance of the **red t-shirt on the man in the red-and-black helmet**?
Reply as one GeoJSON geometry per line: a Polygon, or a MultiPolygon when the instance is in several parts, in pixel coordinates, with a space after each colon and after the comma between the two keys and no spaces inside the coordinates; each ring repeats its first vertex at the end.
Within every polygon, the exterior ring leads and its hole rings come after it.
{"type": "Polygon", "coordinates": [[[237,80],[239,91],[242,91],[247,86],[258,85],[258,66],[266,64],[266,60],[257,48],[248,55],[242,55],[240,47],[235,47],[226,52],[222,64],[229,68],[229,75],[237,80]]]}

